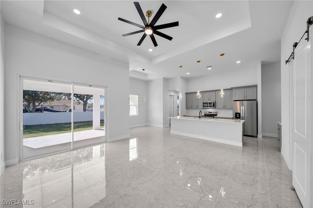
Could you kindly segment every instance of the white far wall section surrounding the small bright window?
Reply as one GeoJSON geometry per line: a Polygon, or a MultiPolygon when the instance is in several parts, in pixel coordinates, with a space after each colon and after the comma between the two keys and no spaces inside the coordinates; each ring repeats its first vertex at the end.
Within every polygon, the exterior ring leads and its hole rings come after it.
{"type": "Polygon", "coordinates": [[[138,95],[138,116],[130,116],[129,125],[130,127],[147,125],[147,82],[130,78],[129,84],[129,93],[132,95],[138,95]],[[146,102],[141,100],[142,97],[147,99],[146,102]]]}

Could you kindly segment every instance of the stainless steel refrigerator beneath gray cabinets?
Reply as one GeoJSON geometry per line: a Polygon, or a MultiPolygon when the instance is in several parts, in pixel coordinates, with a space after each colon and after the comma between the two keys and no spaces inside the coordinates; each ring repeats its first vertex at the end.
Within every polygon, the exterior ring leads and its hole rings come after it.
{"type": "Polygon", "coordinates": [[[245,136],[258,136],[258,113],[256,100],[234,101],[233,119],[245,120],[243,125],[245,136]]]}

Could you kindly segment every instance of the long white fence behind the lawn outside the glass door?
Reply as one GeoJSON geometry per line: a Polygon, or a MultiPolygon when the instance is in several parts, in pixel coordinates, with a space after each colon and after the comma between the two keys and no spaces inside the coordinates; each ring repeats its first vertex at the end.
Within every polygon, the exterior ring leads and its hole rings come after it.
{"type": "MultiPolygon", "coordinates": [[[[92,113],[92,111],[74,112],[74,122],[92,121],[92,113]]],[[[104,120],[104,111],[101,112],[100,119],[104,120]]],[[[24,125],[60,124],[70,122],[71,112],[23,113],[24,125]]]]}

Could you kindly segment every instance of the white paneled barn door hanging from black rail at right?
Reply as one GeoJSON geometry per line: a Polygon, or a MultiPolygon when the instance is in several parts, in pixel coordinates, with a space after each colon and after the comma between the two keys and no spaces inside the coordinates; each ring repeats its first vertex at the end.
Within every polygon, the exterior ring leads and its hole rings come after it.
{"type": "Polygon", "coordinates": [[[302,40],[294,51],[294,60],[290,62],[292,185],[305,208],[313,207],[311,50],[311,40],[302,40]]]}

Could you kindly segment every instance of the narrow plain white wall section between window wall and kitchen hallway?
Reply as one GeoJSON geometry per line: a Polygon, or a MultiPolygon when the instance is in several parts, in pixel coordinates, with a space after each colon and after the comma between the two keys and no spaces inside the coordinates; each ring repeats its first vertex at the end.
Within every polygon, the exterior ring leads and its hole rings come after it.
{"type": "Polygon", "coordinates": [[[147,123],[163,127],[163,78],[147,82],[147,123]]]}

